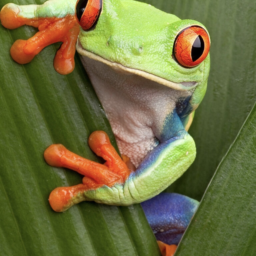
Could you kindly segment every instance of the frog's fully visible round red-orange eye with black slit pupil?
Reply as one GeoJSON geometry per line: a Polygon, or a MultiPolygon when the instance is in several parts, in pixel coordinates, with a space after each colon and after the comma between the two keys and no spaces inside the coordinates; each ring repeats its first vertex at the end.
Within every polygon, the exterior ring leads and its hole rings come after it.
{"type": "Polygon", "coordinates": [[[206,58],[209,48],[207,32],[202,27],[191,26],[183,29],[175,38],[173,55],[180,65],[192,68],[206,58]]]}

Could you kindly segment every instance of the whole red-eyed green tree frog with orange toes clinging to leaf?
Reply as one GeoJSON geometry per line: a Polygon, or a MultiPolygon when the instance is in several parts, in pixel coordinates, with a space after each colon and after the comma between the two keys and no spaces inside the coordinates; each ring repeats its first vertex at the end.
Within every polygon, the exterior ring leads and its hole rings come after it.
{"type": "MultiPolygon", "coordinates": [[[[106,160],[104,165],[60,144],[47,148],[48,164],[85,175],[82,184],[52,191],[49,201],[55,211],[85,200],[111,205],[143,202],[191,165],[196,148],[187,130],[204,97],[210,66],[210,39],[202,24],[133,0],[10,3],[2,8],[0,18],[9,29],[24,24],[39,29],[32,38],[17,40],[11,47],[11,56],[21,64],[30,62],[45,46],[62,41],[54,67],[67,74],[74,68],[76,43],[123,156],[102,131],[91,134],[89,145],[106,160]]],[[[149,222],[155,221],[150,209],[160,207],[167,197],[142,204],[149,222]],[[153,206],[156,202],[161,203],[153,206]]],[[[184,211],[193,214],[195,201],[171,197],[174,203],[185,200],[189,206],[184,211]]],[[[178,213],[174,216],[180,218],[178,213]]],[[[164,233],[163,228],[155,229],[164,233]]]]}

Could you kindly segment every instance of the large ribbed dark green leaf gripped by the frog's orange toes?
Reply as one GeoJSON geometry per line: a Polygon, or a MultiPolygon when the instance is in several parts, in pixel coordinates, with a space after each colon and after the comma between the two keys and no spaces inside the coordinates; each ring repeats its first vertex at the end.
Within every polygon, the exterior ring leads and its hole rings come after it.
{"type": "MultiPolygon", "coordinates": [[[[1,1],[1,7],[7,2],[1,1]]],[[[139,204],[84,202],[64,213],[51,209],[49,193],[81,183],[82,177],[47,165],[44,150],[62,143],[99,160],[88,148],[90,133],[105,130],[115,142],[78,55],[74,72],[67,76],[53,69],[59,44],[44,49],[30,64],[11,59],[12,43],[35,31],[0,26],[0,255],[159,255],[139,204]]]]}

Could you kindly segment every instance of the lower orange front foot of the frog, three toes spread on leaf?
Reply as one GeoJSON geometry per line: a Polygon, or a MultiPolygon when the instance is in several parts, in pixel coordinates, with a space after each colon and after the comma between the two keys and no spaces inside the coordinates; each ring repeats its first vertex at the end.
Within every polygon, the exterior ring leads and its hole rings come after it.
{"type": "Polygon", "coordinates": [[[93,132],[89,137],[89,146],[106,160],[104,165],[80,157],[61,144],[53,144],[45,150],[44,158],[49,165],[65,167],[84,175],[83,184],[58,187],[51,192],[49,202],[53,210],[65,211],[73,204],[90,200],[85,199],[86,191],[104,185],[112,187],[115,184],[123,184],[130,175],[131,171],[111,145],[105,132],[93,132]]]}

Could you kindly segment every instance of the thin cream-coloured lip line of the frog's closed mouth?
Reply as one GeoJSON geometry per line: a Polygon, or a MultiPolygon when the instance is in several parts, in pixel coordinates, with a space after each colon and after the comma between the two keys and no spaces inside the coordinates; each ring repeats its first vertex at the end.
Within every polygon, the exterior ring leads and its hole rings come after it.
{"type": "Polygon", "coordinates": [[[151,73],[148,73],[146,71],[135,69],[135,68],[128,68],[128,67],[126,67],[126,66],[124,66],[120,63],[112,62],[112,61],[109,61],[107,59],[104,59],[104,58],[102,58],[101,56],[99,56],[95,53],[92,53],[90,51],[85,50],[82,47],[82,45],[79,41],[79,37],[78,37],[78,40],[77,40],[77,43],[76,43],[76,50],[80,55],[86,56],[90,59],[94,59],[94,60],[103,62],[103,63],[110,66],[112,69],[114,69],[117,72],[139,75],[139,76],[142,76],[142,77],[147,78],[149,80],[152,80],[154,82],[157,82],[159,84],[162,84],[164,86],[175,89],[175,90],[187,91],[187,90],[194,89],[198,85],[198,82],[193,82],[193,81],[175,83],[175,82],[169,81],[167,79],[164,79],[162,77],[159,77],[159,76],[153,75],[151,73]]]}

